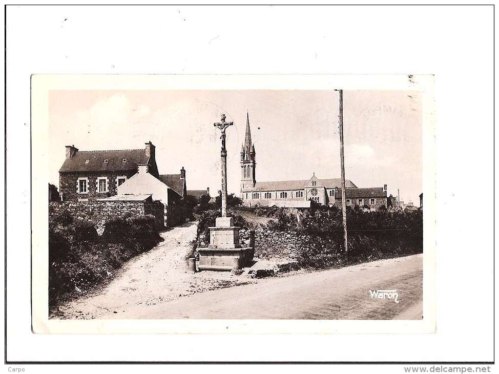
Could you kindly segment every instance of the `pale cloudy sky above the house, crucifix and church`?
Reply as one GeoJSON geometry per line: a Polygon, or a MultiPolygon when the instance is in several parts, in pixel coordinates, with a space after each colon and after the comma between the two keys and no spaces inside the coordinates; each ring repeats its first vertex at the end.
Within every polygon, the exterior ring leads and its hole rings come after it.
{"type": "MultiPolygon", "coordinates": [[[[339,94],[322,90],[50,91],[49,182],[58,186],[65,146],[143,149],[152,141],[160,174],[186,170],[188,190],[220,190],[224,113],[227,189],[239,193],[246,112],[256,180],[340,178],[339,94]]],[[[417,91],[343,91],[345,178],[419,206],[422,101],[417,91]]]]}

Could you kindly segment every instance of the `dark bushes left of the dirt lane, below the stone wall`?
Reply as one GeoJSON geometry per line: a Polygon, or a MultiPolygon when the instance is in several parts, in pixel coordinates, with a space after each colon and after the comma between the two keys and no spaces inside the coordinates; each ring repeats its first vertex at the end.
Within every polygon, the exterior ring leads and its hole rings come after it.
{"type": "Polygon", "coordinates": [[[49,212],[49,307],[87,293],[160,240],[152,215],[109,219],[100,239],[92,222],[49,212]]]}

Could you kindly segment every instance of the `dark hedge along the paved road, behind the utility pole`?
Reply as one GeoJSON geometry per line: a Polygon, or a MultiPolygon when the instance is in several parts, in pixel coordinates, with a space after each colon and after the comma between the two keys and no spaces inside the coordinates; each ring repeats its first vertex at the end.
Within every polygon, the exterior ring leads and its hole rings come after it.
{"type": "Polygon", "coordinates": [[[298,255],[302,266],[323,268],[385,257],[421,253],[423,249],[422,212],[393,212],[386,208],[364,212],[347,209],[348,252],[343,247],[343,222],[336,206],[315,206],[295,213],[276,210],[268,230],[296,230],[304,237],[298,255]]]}

